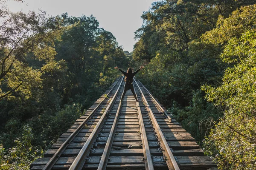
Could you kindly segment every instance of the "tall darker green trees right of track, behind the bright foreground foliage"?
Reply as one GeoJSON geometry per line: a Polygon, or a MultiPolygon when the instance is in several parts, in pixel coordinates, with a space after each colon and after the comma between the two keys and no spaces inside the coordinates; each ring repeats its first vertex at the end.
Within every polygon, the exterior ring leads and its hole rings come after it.
{"type": "Polygon", "coordinates": [[[222,62],[219,55],[230,38],[240,37],[244,28],[253,28],[251,18],[255,11],[244,11],[244,17],[239,17],[236,9],[255,3],[254,0],[155,2],[143,13],[143,26],[135,32],[139,41],[134,45],[133,58],[148,62],[138,78],[200,142],[209,132],[204,128],[208,125],[200,122],[208,122],[211,127],[222,112],[209,102],[195,101],[204,100],[202,85],[218,87],[224,70],[233,67],[233,63],[222,62]],[[236,17],[225,20],[231,14],[236,17]]]}

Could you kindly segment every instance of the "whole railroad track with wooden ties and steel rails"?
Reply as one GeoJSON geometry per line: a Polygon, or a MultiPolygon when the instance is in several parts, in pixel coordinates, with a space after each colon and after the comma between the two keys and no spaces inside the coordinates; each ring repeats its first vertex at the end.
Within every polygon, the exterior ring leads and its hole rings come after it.
{"type": "Polygon", "coordinates": [[[31,170],[208,169],[215,167],[172,115],[134,79],[120,102],[124,77],[47,150],[31,170]]]}

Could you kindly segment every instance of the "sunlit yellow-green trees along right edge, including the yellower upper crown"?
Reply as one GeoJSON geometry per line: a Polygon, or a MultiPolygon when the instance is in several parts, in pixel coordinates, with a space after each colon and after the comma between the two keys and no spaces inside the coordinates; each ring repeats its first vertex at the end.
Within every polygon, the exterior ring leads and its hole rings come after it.
{"type": "Polygon", "coordinates": [[[204,34],[209,42],[225,44],[221,59],[232,65],[219,87],[202,87],[207,100],[224,110],[205,141],[222,170],[256,168],[255,12],[256,5],[242,7],[226,19],[219,17],[219,25],[204,34]]]}

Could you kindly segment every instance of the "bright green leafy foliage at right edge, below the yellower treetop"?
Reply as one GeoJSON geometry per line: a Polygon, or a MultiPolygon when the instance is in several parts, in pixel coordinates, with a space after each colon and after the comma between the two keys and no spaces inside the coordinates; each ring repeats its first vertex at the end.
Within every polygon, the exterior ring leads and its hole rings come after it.
{"type": "Polygon", "coordinates": [[[256,119],[256,32],[247,31],[228,41],[221,58],[236,65],[227,68],[217,88],[203,86],[208,101],[225,107],[224,117],[211,131],[205,145],[216,154],[220,169],[255,169],[256,119]]]}

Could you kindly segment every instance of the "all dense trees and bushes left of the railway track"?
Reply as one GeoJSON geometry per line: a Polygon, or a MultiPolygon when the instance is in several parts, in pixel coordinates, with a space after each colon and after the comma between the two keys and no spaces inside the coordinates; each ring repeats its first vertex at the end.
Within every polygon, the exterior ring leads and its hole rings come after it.
{"type": "Polygon", "coordinates": [[[12,13],[5,0],[0,8],[0,169],[28,169],[131,55],[93,16],[12,13]]]}

